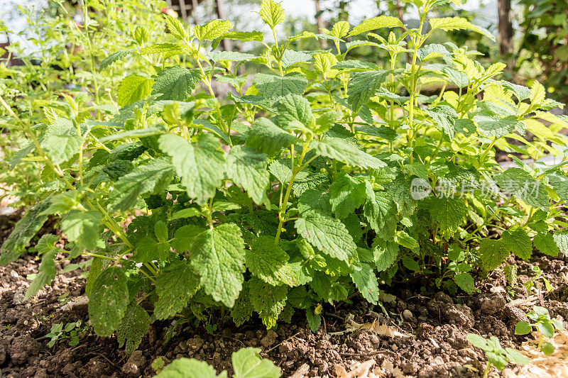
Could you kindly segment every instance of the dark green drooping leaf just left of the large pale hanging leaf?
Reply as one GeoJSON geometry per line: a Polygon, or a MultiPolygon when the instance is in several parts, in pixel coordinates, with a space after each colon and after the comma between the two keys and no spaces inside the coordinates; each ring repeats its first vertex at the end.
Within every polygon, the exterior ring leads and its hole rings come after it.
{"type": "Polygon", "coordinates": [[[199,277],[192,267],[182,260],[173,260],[160,269],[155,279],[158,301],[154,305],[154,315],[165,320],[180,313],[191,297],[199,289],[199,277]]]}

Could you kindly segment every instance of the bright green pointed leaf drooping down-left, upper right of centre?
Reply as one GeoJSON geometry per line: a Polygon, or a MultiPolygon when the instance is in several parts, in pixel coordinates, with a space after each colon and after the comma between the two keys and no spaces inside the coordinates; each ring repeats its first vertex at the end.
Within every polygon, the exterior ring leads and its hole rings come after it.
{"type": "Polygon", "coordinates": [[[389,73],[384,70],[373,70],[351,74],[347,89],[347,102],[351,105],[351,110],[359,112],[361,107],[378,92],[389,73]]]}

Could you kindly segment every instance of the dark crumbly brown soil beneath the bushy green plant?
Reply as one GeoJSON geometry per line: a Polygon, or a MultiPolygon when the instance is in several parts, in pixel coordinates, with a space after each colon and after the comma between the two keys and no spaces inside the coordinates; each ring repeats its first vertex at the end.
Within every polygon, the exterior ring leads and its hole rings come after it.
{"type": "MultiPolygon", "coordinates": [[[[202,327],[180,327],[165,343],[171,321],[156,321],[138,351],[129,356],[118,348],[116,338],[99,338],[89,330],[74,347],[62,340],[48,348],[45,335],[54,323],[87,321],[85,304],[71,309],[62,304],[84,296],[85,280],[80,270],[60,274],[50,287],[24,303],[29,285],[26,275],[38,272],[39,264],[33,255],[23,255],[0,267],[0,377],[152,377],[151,364],[158,357],[166,363],[193,357],[209,362],[218,372],[226,369],[231,374],[231,353],[244,347],[261,348],[264,357],[282,368],[284,377],[304,364],[307,377],[335,377],[336,365],[348,369],[352,362],[367,360],[378,365],[390,361],[410,377],[480,377],[486,358],[469,345],[466,335],[495,335],[502,345],[518,348],[524,338],[515,336],[513,329],[532,304],[567,319],[567,262],[566,257],[551,258],[538,252],[530,263],[516,261],[520,282],[533,277],[530,267],[538,265],[557,288],[547,294],[532,291],[528,295],[523,286],[516,287],[514,299],[527,300],[518,306],[511,306],[506,299],[505,278],[496,270],[477,282],[479,293],[473,296],[452,297],[442,291],[421,292],[419,287],[398,285],[384,288],[391,296],[383,297],[383,308],[356,298],[354,304],[327,306],[317,333],[307,329],[305,317],[297,313],[292,323],[281,323],[275,331],[266,331],[255,322],[241,328],[226,323],[213,334],[202,327]],[[62,299],[64,295],[67,297],[62,299]],[[353,324],[350,319],[359,324],[388,324],[398,335],[346,331],[353,324]]],[[[59,271],[63,268],[58,266],[59,271]]]]}

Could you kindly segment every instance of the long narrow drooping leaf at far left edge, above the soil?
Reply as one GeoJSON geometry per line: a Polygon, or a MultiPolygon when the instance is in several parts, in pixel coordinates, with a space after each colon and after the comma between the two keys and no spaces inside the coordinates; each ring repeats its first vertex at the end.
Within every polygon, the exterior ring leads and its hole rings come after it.
{"type": "Polygon", "coordinates": [[[49,206],[50,199],[41,201],[29,209],[26,215],[16,223],[16,226],[0,248],[0,265],[6,265],[18,260],[18,257],[26,250],[26,245],[28,245],[31,238],[40,230],[43,223],[48,220],[48,216],[43,215],[43,212],[49,206]]]}

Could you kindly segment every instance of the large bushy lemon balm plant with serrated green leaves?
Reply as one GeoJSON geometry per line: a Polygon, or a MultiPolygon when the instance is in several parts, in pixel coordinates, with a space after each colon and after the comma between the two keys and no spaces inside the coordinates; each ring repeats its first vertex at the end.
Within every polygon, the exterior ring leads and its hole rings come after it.
{"type": "Polygon", "coordinates": [[[566,252],[564,162],[518,160],[503,171],[495,159],[496,148],[562,155],[557,130],[566,121],[547,113],[558,104],[538,83],[499,81],[501,63],[485,68],[476,52],[428,44],[439,30],[492,37],[461,18],[427,17],[447,1],[413,4],[417,28],[380,16],[290,37],[278,34],[285,14],[272,0],[258,12],[268,35],[166,16],[175,42],[141,36],[101,64],[104,74],[125,57],[160,62],[152,77],[121,81],[119,111],[50,116],[39,135],[21,120],[50,190],[6,240],[0,262],[15,261],[46,217],[59,215],[69,243],[61,251],[55,236],[41,238],[28,297],[55,277],[61,252],[93,257],[90,321],[131,351],[150,313],[206,321],[229,308],[237,325],[256,313],[271,328],[301,310],[317,330],[322,304],[356,291],[376,303],[379,284],[393,279],[430,277],[471,292],[474,269],[491,271],[511,253],[566,252]],[[373,33],[381,28],[392,29],[387,39],[373,33]],[[266,50],[217,50],[224,38],[266,50]],[[298,38],[327,38],[335,48],[296,51],[298,38]],[[350,60],[360,45],[390,60],[350,60]],[[402,66],[407,52],[412,61],[402,66]],[[245,62],[261,71],[249,87],[238,74],[245,62]],[[215,81],[231,86],[226,99],[215,81]],[[432,84],[439,94],[422,95],[432,84]]]}

